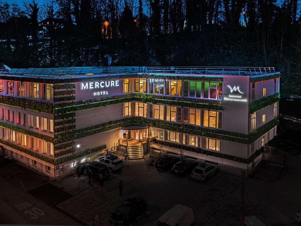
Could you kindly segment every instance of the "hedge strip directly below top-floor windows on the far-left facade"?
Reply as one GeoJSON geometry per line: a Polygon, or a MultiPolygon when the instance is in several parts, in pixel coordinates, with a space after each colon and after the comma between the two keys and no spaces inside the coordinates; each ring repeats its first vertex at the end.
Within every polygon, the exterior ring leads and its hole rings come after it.
{"type": "Polygon", "coordinates": [[[40,102],[39,100],[31,100],[19,97],[2,96],[0,95],[0,102],[2,104],[20,107],[34,111],[42,111],[53,114],[53,103],[40,102]]]}

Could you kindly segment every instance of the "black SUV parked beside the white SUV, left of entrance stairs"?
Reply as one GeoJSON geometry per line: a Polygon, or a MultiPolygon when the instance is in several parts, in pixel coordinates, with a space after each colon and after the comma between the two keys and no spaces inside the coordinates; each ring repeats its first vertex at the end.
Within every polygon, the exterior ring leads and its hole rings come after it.
{"type": "Polygon", "coordinates": [[[91,169],[92,171],[92,179],[94,181],[102,180],[104,179],[104,177],[110,176],[109,168],[107,168],[107,166],[105,166],[104,164],[96,161],[88,162],[83,166],[79,164],[76,170],[79,171],[79,174],[88,175],[89,169],[91,169]]]}

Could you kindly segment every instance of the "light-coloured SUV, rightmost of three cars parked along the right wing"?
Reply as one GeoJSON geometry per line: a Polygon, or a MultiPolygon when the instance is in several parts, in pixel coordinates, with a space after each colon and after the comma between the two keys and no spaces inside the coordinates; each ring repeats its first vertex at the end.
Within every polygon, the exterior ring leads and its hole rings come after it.
{"type": "Polygon", "coordinates": [[[191,173],[191,177],[197,180],[208,181],[210,177],[217,174],[219,168],[215,165],[210,165],[206,163],[201,163],[196,166],[191,173]]]}

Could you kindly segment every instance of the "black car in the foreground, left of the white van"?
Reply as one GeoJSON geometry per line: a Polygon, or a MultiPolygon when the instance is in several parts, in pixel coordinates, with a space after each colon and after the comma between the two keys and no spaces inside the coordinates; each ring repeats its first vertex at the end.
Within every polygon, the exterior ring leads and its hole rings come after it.
{"type": "Polygon", "coordinates": [[[138,216],[145,213],[147,208],[146,201],[140,196],[132,196],[123,202],[111,214],[110,224],[117,226],[127,226],[133,222],[138,216]]]}

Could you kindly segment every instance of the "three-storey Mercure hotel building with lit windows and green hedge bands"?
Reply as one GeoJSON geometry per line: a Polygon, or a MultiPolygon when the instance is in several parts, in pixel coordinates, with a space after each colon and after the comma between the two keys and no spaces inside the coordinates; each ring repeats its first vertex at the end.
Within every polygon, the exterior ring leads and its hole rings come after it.
{"type": "Polygon", "coordinates": [[[273,67],[74,67],[0,73],[0,149],[59,179],[123,146],[250,173],[278,124],[273,67]]]}

